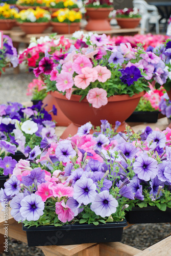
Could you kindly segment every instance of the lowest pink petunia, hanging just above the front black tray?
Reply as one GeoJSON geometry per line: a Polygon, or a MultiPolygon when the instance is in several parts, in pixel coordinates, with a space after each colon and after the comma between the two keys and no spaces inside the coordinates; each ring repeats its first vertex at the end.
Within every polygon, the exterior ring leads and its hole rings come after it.
{"type": "Polygon", "coordinates": [[[58,219],[60,221],[65,223],[66,221],[71,221],[74,219],[74,212],[67,206],[67,203],[65,205],[64,200],[57,202],[55,206],[56,214],[58,215],[58,219]]]}

